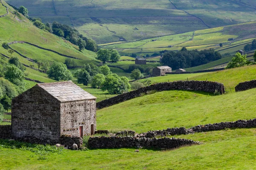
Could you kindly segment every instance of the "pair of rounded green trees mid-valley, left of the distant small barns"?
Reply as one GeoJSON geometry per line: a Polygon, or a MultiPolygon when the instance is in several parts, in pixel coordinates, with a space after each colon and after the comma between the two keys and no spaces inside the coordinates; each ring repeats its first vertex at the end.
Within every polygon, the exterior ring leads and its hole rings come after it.
{"type": "Polygon", "coordinates": [[[116,50],[109,50],[109,49],[100,49],[97,52],[97,59],[106,63],[107,61],[111,62],[118,62],[120,59],[120,54],[116,50]]]}

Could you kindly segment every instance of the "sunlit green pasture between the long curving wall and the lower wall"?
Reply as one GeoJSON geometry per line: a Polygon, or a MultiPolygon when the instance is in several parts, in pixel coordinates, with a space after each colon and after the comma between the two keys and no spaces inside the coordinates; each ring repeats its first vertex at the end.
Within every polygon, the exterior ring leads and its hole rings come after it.
{"type": "Polygon", "coordinates": [[[252,119],[256,117],[254,95],[256,89],[220,96],[192,91],[157,92],[98,110],[97,128],[129,128],[140,133],[252,119]]]}

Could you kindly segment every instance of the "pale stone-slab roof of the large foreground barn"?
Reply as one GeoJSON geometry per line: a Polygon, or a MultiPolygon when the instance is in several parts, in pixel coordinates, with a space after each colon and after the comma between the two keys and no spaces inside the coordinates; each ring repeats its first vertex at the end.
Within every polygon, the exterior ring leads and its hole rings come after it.
{"type": "Polygon", "coordinates": [[[96,99],[72,81],[37,84],[60,102],[96,99]]]}

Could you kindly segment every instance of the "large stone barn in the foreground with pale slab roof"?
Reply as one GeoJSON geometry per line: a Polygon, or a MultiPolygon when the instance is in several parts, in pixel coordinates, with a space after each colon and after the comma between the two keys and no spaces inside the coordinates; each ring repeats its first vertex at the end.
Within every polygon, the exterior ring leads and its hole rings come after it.
{"type": "Polygon", "coordinates": [[[37,84],[12,99],[12,137],[61,143],[96,130],[96,97],[72,81],[37,84]]]}

